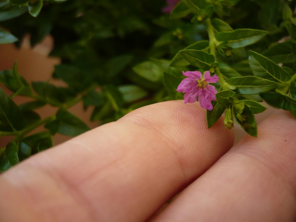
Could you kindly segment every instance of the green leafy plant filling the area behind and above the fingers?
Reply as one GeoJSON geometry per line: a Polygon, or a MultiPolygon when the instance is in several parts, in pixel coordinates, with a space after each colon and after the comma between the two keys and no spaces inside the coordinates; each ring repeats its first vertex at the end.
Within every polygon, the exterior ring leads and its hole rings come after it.
{"type": "Polygon", "coordinates": [[[0,171],[52,147],[52,135],[76,136],[89,130],[68,111],[78,102],[92,109],[90,119],[114,121],[141,106],[182,99],[176,91],[182,71],[210,70],[219,76],[207,125],[226,112],[257,136],[254,114],[260,102],[296,114],[295,1],[182,0],[170,14],[164,1],[0,0],[0,44],[31,45],[54,38],[51,56],[61,58],[52,78],[67,86],[28,83],[18,72],[0,72],[0,137],[14,136],[0,148],[0,171]],[[61,3],[61,4],[59,4],[61,3]],[[15,96],[31,101],[17,106],[15,96]],[[41,119],[36,109],[57,107],[41,119]],[[29,135],[38,126],[45,131],[29,135]]]}

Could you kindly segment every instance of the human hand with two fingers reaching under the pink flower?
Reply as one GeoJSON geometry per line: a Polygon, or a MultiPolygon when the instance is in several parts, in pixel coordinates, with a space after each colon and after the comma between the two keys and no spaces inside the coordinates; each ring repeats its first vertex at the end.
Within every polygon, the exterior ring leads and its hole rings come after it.
{"type": "Polygon", "coordinates": [[[0,221],[295,221],[292,115],[232,149],[222,122],[197,102],[135,110],[3,173],[0,221]]]}

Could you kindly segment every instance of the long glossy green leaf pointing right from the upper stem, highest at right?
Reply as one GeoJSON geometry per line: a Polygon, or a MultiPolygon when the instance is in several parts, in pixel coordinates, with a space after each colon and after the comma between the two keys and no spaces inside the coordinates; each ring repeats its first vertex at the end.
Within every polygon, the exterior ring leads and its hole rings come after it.
{"type": "Polygon", "coordinates": [[[232,32],[220,32],[216,35],[219,42],[227,42],[231,48],[240,48],[260,41],[268,32],[255,29],[237,29],[232,32]]]}

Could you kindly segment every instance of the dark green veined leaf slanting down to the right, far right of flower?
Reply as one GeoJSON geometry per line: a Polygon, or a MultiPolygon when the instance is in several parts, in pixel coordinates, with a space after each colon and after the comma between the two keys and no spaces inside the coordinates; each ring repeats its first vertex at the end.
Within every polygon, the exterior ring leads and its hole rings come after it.
{"type": "Polygon", "coordinates": [[[286,82],[291,75],[270,59],[256,52],[249,52],[249,62],[255,76],[273,81],[286,82]]]}

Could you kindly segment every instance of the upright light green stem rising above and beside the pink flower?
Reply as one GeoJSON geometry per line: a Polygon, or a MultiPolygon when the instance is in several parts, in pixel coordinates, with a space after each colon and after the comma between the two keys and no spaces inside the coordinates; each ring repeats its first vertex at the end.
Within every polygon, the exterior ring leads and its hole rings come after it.
{"type": "MultiPolygon", "coordinates": [[[[207,24],[207,33],[209,35],[209,46],[210,46],[210,53],[215,57],[215,62],[217,62],[217,57],[216,57],[216,47],[215,47],[215,42],[217,41],[215,38],[215,34],[214,34],[214,29],[213,29],[213,25],[211,23],[211,20],[208,18],[206,20],[206,24],[207,24]]],[[[227,83],[225,81],[225,79],[223,78],[220,70],[218,67],[215,68],[216,70],[216,74],[219,77],[219,82],[221,84],[221,87],[223,89],[228,89],[227,87],[227,83]]]]}

